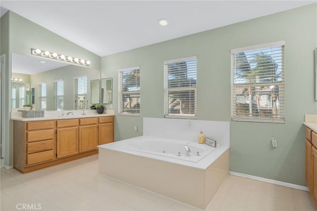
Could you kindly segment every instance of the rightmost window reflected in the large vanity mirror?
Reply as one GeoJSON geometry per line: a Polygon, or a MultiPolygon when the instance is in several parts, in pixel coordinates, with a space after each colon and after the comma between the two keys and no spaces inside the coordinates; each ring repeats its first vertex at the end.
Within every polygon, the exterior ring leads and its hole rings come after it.
{"type": "Polygon", "coordinates": [[[74,78],[74,109],[87,108],[87,76],[74,78]]]}

